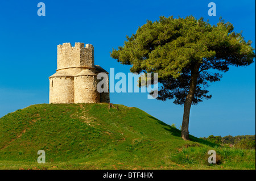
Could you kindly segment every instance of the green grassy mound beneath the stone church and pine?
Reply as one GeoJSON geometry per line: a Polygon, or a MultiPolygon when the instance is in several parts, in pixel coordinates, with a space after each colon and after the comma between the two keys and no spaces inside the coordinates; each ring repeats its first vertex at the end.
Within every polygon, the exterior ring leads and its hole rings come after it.
{"type": "Polygon", "coordinates": [[[0,133],[0,169],[255,169],[255,150],[184,141],[178,129],[117,104],[37,104],[1,117],[0,133]],[[217,165],[207,162],[212,149],[217,165]]]}

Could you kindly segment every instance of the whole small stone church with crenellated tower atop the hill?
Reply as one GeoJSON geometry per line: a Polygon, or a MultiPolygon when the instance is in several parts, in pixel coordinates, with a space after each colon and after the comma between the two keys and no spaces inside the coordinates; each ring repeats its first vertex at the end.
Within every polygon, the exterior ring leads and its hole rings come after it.
{"type": "MultiPolygon", "coordinates": [[[[109,103],[109,92],[97,91],[100,72],[108,74],[94,65],[93,45],[57,45],[57,70],[49,77],[49,103],[109,103]]],[[[109,78],[106,85],[109,89],[109,78]]]]}

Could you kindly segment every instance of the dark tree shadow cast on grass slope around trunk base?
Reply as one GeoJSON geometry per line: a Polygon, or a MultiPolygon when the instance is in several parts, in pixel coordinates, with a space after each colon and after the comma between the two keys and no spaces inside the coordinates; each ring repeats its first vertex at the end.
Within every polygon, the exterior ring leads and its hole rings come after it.
{"type": "MultiPolygon", "coordinates": [[[[170,125],[164,123],[163,121],[160,121],[160,120],[156,119],[153,116],[148,116],[148,117],[150,117],[151,119],[156,120],[158,122],[158,124],[163,125],[164,126],[163,128],[166,129],[166,131],[171,132],[171,134],[173,136],[181,137],[181,131],[179,129],[171,127],[170,125]]],[[[189,140],[193,141],[193,142],[198,142],[200,144],[207,145],[207,146],[210,146],[210,147],[218,146],[216,144],[213,144],[212,142],[209,142],[209,141],[203,140],[201,138],[197,138],[195,136],[192,136],[191,134],[189,134],[189,140]]]]}

